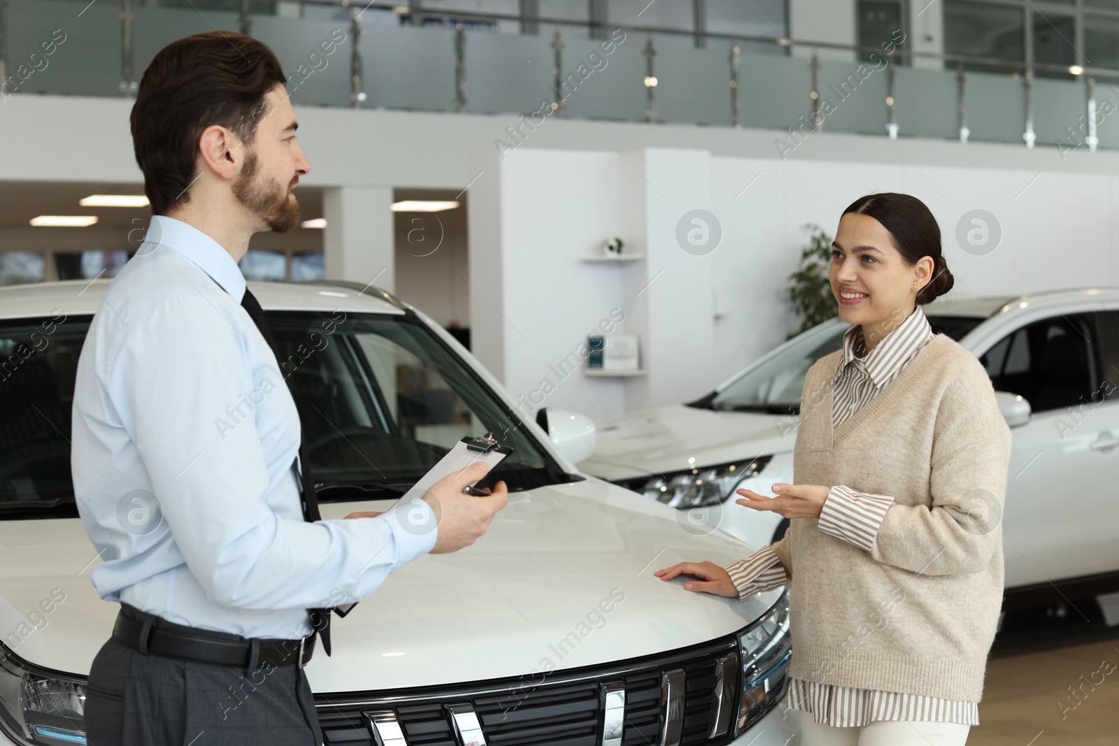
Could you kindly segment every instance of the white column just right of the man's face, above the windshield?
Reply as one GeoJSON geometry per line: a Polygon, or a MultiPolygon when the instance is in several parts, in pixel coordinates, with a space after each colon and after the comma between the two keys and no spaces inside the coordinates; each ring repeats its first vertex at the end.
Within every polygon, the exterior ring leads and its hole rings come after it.
{"type": "Polygon", "coordinates": [[[392,187],[329,187],[322,190],[322,235],[329,280],[395,285],[392,187]]]}

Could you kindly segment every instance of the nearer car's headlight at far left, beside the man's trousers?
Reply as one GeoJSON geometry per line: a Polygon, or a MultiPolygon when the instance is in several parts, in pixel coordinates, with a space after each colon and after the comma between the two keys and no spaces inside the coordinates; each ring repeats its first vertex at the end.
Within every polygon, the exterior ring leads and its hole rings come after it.
{"type": "Polygon", "coordinates": [[[17,744],[85,742],[85,681],[39,671],[0,646],[0,731],[17,744]]]}

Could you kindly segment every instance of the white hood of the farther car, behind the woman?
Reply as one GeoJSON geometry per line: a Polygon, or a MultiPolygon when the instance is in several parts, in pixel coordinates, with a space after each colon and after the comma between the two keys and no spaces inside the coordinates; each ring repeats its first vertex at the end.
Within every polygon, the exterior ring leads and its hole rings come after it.
{"type": "Polygon", "coordinates": [[[670,404],[599,423],[594,453],[579,468],[606,480],[792,451],[798,417],[670,404]]]}

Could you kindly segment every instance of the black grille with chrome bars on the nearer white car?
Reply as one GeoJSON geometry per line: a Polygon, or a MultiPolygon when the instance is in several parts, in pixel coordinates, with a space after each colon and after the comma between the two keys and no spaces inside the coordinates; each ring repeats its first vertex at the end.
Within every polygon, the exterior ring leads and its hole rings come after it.
{"type": "Polygon", "coordinates": [[[464,746],[455,730],[463,717],[469,723],[477,717],[481,734],[476,743],[483,739],[486,746],[602,746],[618,743],[606,721],[608,698],[617,708],[623,691],[621,746],[718,746],[733,737],[733,725],[721,729],[716,717],[723,712],[725,723],[733,717],[728,711],[737,712],[737,641],[727,638],[556,672],[543,681],[537,674],[399,692],[317,695],[316,703],[326,746],[389,746],[396,733],[407,746],[464,746]],[[720,735],[713,738],[713,730],[720,735]]]}

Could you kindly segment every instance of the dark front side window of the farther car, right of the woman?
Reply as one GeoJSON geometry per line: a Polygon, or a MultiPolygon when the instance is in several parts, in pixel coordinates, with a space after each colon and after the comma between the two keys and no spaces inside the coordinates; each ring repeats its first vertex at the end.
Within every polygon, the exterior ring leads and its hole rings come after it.
{"type": "Polygon", "coordinates": [[[1091,400],[1099,381],[1093,314],[1053,317],[1017,329],[979,361],[996,390],[1017,394],[1034,412],[1091,400]]]}

